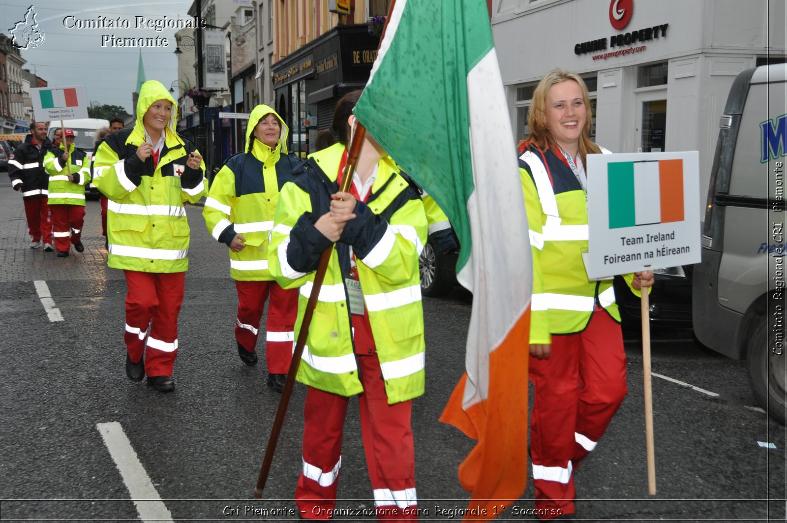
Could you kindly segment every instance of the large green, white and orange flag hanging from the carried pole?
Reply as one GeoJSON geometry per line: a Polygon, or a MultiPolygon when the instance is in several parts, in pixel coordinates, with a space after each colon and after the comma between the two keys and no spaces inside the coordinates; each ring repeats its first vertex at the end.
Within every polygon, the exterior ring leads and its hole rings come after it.
{"type": "Polygon", "coordinates": [[[494,500],[518,499],[527,482],[532,262],[486,2],[397,0],[355,114],[460,239],[473,308],[466,372],[441,419],[478,440],[459,477],[468,517],[490,519],[494,500]]]}

